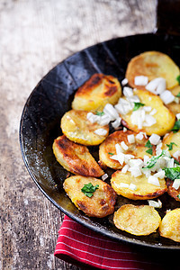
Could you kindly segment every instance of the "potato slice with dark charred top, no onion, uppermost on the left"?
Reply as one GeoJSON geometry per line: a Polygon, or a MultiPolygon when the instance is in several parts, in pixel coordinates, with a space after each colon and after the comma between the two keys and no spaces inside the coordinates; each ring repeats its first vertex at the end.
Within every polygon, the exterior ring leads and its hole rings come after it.
{"type": "Polygon", "coordinates": [[[94,74],[78,88],[72,103],[74,110],[102,112],[106,103],[115,104],[121,96],[121,85],[114,76],[94,74]]]}

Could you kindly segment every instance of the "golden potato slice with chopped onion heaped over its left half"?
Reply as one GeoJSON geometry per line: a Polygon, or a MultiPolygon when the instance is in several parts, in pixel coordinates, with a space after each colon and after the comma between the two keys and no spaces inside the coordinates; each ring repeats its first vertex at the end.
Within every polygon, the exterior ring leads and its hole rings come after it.
{"type": "Polygon", "coordinates": [[[157,110],[157,112],[153,115],[157,122],[152,126],[146,126],[142,127],[142,129],[139,129],[138,125],[131,121],[130,116],[133,112],[130,111],[127,114],[121,114],[123,124],[126,127],[135,132],[146,132],[149,136],[153,133],[163,136],[166,134],[166,132],[172,130],[175,124],[175,114],[166,108],[159,96],[146,90],[136,90],[134,93],[139,96],[140,103],[143,103],[146,106],[150,106],[152,109],[157,110]]]}

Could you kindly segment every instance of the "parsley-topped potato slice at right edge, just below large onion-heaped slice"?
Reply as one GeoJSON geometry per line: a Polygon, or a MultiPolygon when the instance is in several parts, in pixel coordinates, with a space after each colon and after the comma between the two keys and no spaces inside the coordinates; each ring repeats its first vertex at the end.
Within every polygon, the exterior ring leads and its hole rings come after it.
{"type": "MultiPolygon", "coordinates": [[[[172,157],[174,157],[174,154],[176,151],[180,149],[180,130],[176,133],[173,133],[171,131],[168,135],[166,135],[163,138],[163,149],[168,148],[169,153],[172,157]],[[171,149],[172,148],[172,149],[171,149]]],[[[174,157],[178,162],[180,162],[180,157],[174,157]]]]}

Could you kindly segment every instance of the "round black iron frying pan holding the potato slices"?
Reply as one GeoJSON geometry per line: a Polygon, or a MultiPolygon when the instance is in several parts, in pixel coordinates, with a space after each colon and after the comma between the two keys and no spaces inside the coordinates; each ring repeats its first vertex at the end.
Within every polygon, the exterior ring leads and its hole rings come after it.
{"type": "MultiPolygon", "coordinates": [[[[158,7],[162,5],[161,3],[160,1],[158,7]]],[[[163,1],[163,8],[165,5],[166,1],[163,1]]],[[[96,44],[77,52],[52,68],[34,88],[24,106],[20,144],[25,166],[40,191],[70,218],[110,238],[146,247],[180,250],[180,243],[161,238],[158,233],[148,237],[136,237],[116,229],[112,223],[112,215],[95,219],[88,218],[82,211],[78,211],[62,188],[67,171],[58,164],[52,153],[53,140],[62,134],[61,117],[70,110],[76,89],[94,73],[116,76],[121,82],[130,58],[146,50],[162,51],[180,66],[180,36],[177,35],[179,31],[172,34],[172,28],[169,27],[164,33],[163,27],[159,25],[165,25],[162,16],[157,20],[156,33],[139,34],[96,44]]],[[[176,29],[179,30],[178,27],[176,29]]],[[[95,156],[97,149],[91,150],[95,156]]],[[[175,202],[167,194],[161,196],[161,201],[163,203],[163,208],[159,211],[161,217],[165,215],[166,209],[180,207],[180,203],[175,202]]],[[[143,204],[120,196],[116,209],[124,203],[143,204]]]]}

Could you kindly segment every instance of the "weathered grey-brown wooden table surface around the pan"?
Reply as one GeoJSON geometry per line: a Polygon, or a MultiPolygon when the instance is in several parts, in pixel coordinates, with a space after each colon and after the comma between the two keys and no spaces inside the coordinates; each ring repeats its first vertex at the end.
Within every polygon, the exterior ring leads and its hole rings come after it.
{"type": "Polygon", "coordinates": [[[32,89],[76,51],[155,25],[156,0],[0,0],[0,269],[79,269],[54,257],[64,214],[23,164],[19,122],[32,89]]]}

